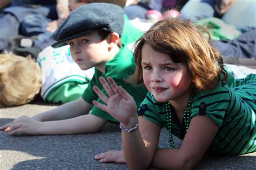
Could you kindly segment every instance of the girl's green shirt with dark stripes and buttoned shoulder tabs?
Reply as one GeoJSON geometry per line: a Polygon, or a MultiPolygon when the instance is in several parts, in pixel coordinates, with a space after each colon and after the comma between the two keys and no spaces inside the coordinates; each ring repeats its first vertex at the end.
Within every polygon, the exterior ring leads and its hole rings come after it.
{"type": "MultiPolygon", "coordinates": [[[[208,152],[238,155],[255,152],[255,112],[256,75],[250,74],[245,79],[234,80],[231,86],[219,83],[216,88],[194,96],[190,118],[206,115],[219,126],[208,152]]],[[[167,128],[164,103],[154,100],[150,93],[140,105],[138,114],[160,128],[167,128]]],[[[173,109],[172,114],[172,133],[183,139],[184,124],[179,123],[173,109]]]]}

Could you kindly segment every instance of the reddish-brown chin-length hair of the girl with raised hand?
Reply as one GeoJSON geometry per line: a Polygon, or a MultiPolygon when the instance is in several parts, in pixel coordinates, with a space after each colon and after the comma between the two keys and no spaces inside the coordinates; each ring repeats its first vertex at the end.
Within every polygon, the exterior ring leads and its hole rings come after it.
{"type": "Polygon", "coordinates": [[[136,42],[134,58],[138,67],[131,80],[143,83],[142,47],[149,44],[154,51],[167,54],[173,62],[187,66],[194,80],[193,93],[214,88],[220,80],[220,73],[225,74],[223,58],[210,45],[210,38],[207,39],[204,32],[208,33],[207,29],[188,20],[160,20],[136,42]]]}

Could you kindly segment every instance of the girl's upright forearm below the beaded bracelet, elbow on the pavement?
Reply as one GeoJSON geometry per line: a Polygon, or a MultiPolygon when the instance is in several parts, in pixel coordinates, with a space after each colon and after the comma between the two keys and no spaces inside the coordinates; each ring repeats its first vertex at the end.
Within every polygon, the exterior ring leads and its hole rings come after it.
{"type": "Polygon", "coordinates": [[[132,169],[146,169],[151,165],[157,150],[160,128],[139,116],[139,129],[122,131],[124,157],[132,169]]]}

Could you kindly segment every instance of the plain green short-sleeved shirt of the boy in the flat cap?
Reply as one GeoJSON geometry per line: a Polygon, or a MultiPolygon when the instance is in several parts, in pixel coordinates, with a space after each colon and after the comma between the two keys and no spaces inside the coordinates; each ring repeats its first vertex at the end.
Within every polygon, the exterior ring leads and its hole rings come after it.
{"type": "MultiPolygon", "coordinates": [[[[102,84],[99,82],[99,77],[103,76],[106,79],[110,76],[114,81],[116,81],[118,86],[122,86],[134,98],[137,107],[139,107],[139,104],[144,100],[147,94],[146,87],[133,86],[132,84],[125,82],[125,80],[134,73],[135,67],[136,64],[134,63],[131,50],[128,49],[127,46],[123,45],[116,56],[106,63],[105,74],[100,72],[98,69],[95,69],[95,74],[82,95],[83,99],[87,103],[91,104],[93,100],[103,103],[98,95],[93,91],[92,87],[97,86],[105,95],[107,95],[102,84]]],[[[96,106],[93,106],[91,114],[112,122],[118,122],[107,112],[100,110],[96,106]]]]}

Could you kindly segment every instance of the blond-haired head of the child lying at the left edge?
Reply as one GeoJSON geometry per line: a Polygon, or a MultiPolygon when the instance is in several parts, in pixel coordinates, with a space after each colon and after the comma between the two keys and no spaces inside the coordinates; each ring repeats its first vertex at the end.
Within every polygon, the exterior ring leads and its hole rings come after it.
{"type": "Polygon", "coordinates": [[[39,65],[30,56],[0,54],[0,103],[22,105],[29,103],[42,86],[39,65]]]}

